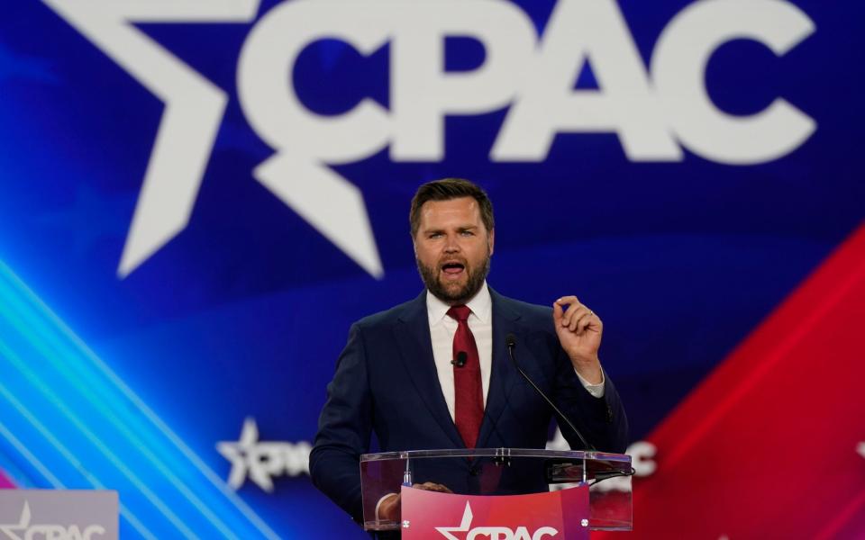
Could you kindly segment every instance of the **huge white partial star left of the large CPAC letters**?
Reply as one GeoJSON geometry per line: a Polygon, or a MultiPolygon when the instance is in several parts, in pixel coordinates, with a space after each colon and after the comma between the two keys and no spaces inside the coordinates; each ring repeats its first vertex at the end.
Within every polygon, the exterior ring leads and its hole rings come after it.
{"type": "MultiPolygon", "coordinates": [[[[165,103],[123,246],[123,278],[186,229],[228,103],[225,91],[132,23],[250,23],[259,0],[43,0],[165,103]]],[[[370,275],[384,275],[363,195],[323,164],[280,156],[257,180],[370,275]]]]}

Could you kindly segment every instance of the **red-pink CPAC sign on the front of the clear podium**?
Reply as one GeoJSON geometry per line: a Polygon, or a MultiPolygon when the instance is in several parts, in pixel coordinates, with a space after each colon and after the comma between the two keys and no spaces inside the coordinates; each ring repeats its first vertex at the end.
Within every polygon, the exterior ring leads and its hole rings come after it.
{"type": "Polygon", "coordinates": [[[588,540],[588,487],[532,495],[402,488],[405,540],[588,540]]]}

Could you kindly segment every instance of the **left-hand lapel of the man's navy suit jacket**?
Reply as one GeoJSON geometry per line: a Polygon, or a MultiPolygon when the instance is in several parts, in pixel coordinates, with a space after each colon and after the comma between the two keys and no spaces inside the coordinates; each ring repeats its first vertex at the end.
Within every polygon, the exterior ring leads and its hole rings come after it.
{"type": "Polygon", "coordinates": [[[444,401],[442,384],[435,370],[432,357],[430,322],[426,312],[426,291],[414,302],[406,305],[394,327],[396,342],[399,344],[400,357],[405,370],[414,383],[414,388],[430,410],[432,418],[441,426],[442,431],[451,439],[455,447],[464,447],[460,433],[451,419],[448,404],[444,401]]]}

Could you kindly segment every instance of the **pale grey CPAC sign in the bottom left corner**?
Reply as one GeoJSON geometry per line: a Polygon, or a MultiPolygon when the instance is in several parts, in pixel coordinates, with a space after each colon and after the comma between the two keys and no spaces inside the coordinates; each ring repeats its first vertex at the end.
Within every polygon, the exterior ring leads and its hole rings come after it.
{"type": "Polygon", "coordinates": [[[0,539],[116,540],[117,491],[0,490],[0,539]]]}

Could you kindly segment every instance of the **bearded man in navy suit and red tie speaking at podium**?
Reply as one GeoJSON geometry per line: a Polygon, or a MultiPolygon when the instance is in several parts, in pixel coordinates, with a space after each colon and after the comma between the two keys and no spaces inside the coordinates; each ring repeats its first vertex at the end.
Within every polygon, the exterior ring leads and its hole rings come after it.
{"type": "MultiPolygon", "coordinates": [[[[314,484],[360,522],[359,457],[373,432],[382,452],[544,447],[552,412],[508,358],[511,336],[520,366],[588,442],[624,452],[627,420],[598,359],[597,315],[575,296],[550,309],[487,287],[495,243],[487,193],[454,178],[423,184],[409,217],[426,290],[351,327],[310,454],[314,484]]],[[[560,429],[572,447],[583,447],[567,425],[560,429]]],[[[480,492],[477,465],[453,460],[451,470],[414,480],[425,489],[480,492]]],[[[499,488],[542,481],[513,469],[499,488]]],[[[396,495],[376,511],[395,518],[396,495]]]]}

